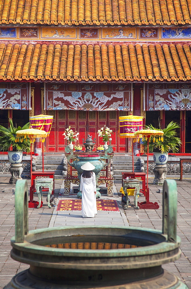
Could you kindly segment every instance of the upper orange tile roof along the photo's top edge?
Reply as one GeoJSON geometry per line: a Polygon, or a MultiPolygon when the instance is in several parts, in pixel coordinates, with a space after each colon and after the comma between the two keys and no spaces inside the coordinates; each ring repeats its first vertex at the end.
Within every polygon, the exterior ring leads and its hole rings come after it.
{"type": "Polygon", "coordinates": [[[2,0],[0,23],[191,24],[190,0],[2,0]]]}

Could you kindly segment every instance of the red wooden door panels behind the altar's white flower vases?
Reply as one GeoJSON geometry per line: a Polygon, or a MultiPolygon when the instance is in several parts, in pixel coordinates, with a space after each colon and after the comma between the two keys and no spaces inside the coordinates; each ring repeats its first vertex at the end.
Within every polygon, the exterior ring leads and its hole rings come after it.
{"type": "MultiPolygon", "coordinates": [[[[126,112],[119,111],[76,111],[76,110],[59,110],[47,111],[47,114],[53,115],[52,129],[46,142],[47,152],[64,152],[66,140],[63,133],[65,128],[71,126],[71,129],[78,131],[78,143],[82,144],[90,134],[92,139],[96,139],[96,146],[104,144],[101,138],[98,138],[97,131],[104,125],[113,130],[111,135],[112,147],[114,152],[127,151],[127,139],[120,138],[119,116],[125,115],[126,112]]],[[[95,148],[96,149],[96,148],[95,148]]]]}

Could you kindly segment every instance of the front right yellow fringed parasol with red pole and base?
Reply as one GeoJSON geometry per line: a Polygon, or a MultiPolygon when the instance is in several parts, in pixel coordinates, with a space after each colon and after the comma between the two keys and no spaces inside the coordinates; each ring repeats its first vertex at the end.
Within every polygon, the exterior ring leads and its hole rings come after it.
{"type": "Polygon", "coordinates": [[[135,131],[135,141],[139,141],[139,138],[143,138],[143,140],[147,140],[147,181],[146,181],[146,202],[138,203],[140,209],[158,209],[159,205],[157,202],[152,203],[149,202],[149,188],[148,188],[148,145],[150,142],[150,137],[154,136],[153,142],[158,142],[161,140],[163,142],[164,132],[161,130],[154,129],[142,129],[139,131],[135,131]]]}

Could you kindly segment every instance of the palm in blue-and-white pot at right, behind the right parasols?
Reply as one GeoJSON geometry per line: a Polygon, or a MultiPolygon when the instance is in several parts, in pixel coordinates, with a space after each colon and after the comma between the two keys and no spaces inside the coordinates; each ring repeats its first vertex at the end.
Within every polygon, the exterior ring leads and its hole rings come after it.
{"type": "MultiPolygon", "coordinates": [[[[153,125],[148,125],[148,129],[161,130],[164,132],[164,140],[154,140],[154,137],[151,137],[148,151],[149,153],[153,153],[153,160],[155,164],[161,165],[166,164],[168,161],[168,152],[172,151],[173,153],[177,153],[179,151],[179,147],[181,146],[181,140],[177,137],[176,129],[179,128],[180,125],[174,121],[171,121],[166,128],[161,129],[160,124],[159,128],[153,127],[153,125]]],[[[144,147],[147,149],[147,143],[144,142],[144,147]]]]}

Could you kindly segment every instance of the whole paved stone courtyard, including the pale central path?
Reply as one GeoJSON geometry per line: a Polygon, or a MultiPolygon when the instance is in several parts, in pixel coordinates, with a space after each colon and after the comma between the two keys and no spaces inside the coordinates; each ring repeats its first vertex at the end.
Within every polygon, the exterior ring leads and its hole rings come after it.
{"type": "MultiPolygon", "coordinates": [[[[177,209],[177,234],[181,237],[182,255],[179,260],[165,264],[163,267],[175,273],[188,288],[191,289],[191,179],[183,179],[182,182],[175,179],[178,185],[178,209],[177,209]]],[[[8,185],[9,177],[0,177],[0,289],[2,289],[12,277],[29,267],[29,265],[16,262],[10,257],[10,238],[14,235],[14,193],[4,192],[4,189],[14,188],[8,185]]],[[[30,185],[30,180],[28,181],[30,185]]],[[[102,196],[104,199],[115,199],[119,212],[98,211],[95,218],[82,218],[81,211],[56,211],[57,206],[47,207],[46,195],[43,195],[43,207],[40,209],[29,208],[29,230],[44,227],[71,226],[71,225],[116,225],[116,226],[140,226],[153,229],[162,229],[162,194],[158,193],[161,186],[152,185],[149,179],[150,201],[157,201],[158,210],[137,210],[133,206],[124,210],[121,205],[121,181],[115,181],[114,196],[102,196]]],[[[63,180],[55,180],[55,200],[75,198],[75,195],[63,195],[63,180]],[[60,196],[59,196],[60,193],[60,196]]],[[[131,203],[133,203],[133,197],[131,203]]],[[[34,199],[38,199],[34,195],[34,199]]],[[[139,201],[144,201],[140,194],[139,201]]]]}

